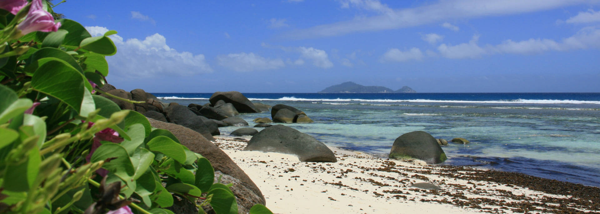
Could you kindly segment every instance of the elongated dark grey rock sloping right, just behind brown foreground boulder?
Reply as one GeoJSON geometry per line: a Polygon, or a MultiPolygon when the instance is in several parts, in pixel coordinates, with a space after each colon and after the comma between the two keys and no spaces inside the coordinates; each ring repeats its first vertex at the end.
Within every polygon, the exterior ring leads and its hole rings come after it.
{"type": "Polygon", "coordinates": [[[194,131],[199,132],[208,140],[214,140],[209,128],[206,127],[204,121],[199,116],[194,114],[190,108],[186,106],[171,104],[169,107],[164,108],[164,113],[167,117],[167,121],[185,126],[194,131]]]}

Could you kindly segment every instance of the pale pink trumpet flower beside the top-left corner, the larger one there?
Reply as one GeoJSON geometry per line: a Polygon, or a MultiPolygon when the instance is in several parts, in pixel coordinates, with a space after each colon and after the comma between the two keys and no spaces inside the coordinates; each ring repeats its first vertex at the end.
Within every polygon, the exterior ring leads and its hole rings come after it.
{"type": "Polygon", "coordinates": [[[58,31],[58,28],[61,27],[60,22],[54,23],[52,14],[44,10],[41,1],[42,0],[31,1],[31,8],[29,8],[27,17],[25,17],[25,20],[17,26],[17,28],[21,30],[21,34],[26,35],[34,31],[56,32],[58,31]]]}

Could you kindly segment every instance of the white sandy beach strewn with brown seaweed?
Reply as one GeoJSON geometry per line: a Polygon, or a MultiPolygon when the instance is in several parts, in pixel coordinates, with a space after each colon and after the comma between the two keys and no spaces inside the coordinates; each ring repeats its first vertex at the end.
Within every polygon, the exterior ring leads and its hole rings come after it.
{"type": "Polygon", "coordinates": [[[300,162],[293,155],[243,151],[244,140],[216,138],[213,142],[250,176],[274,213],[600,212],[595,187],[418,160],[389,161],[337,148],[331,148],[335,163],[300,162]],[[420,182],[440,189],[411,187],[420,182]]]}

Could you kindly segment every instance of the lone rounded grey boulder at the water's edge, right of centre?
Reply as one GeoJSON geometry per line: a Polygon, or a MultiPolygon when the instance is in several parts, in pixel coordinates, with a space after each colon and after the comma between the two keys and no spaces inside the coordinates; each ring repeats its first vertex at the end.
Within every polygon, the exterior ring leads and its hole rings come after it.
{"type": "Polygon", "coordinates": [[[424,131],[413,131],[396,138],[389,152],[390,159],[421,159],[428,164],[446,161],[446,153],[436,138],[424,131]]]}

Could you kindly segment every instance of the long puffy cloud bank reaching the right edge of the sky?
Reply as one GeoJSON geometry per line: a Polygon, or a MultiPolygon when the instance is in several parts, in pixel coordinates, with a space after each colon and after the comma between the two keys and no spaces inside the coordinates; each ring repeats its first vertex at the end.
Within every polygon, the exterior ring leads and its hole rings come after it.
{"type": "Polygon", "coordinates": [[[506,40],[500,44],[479,46],[477,44],[478,38],[475,35],[469,43],[454,46],[441,44],[437,47],[437,50],[445,58],[462,59],[504,53],[530,55],[548,51],[600,49],[600,29],[595,27],[581,29],[577,34],[564,38],[561,41],[546,38],[530,38],[523,41],[506,40]]]}

